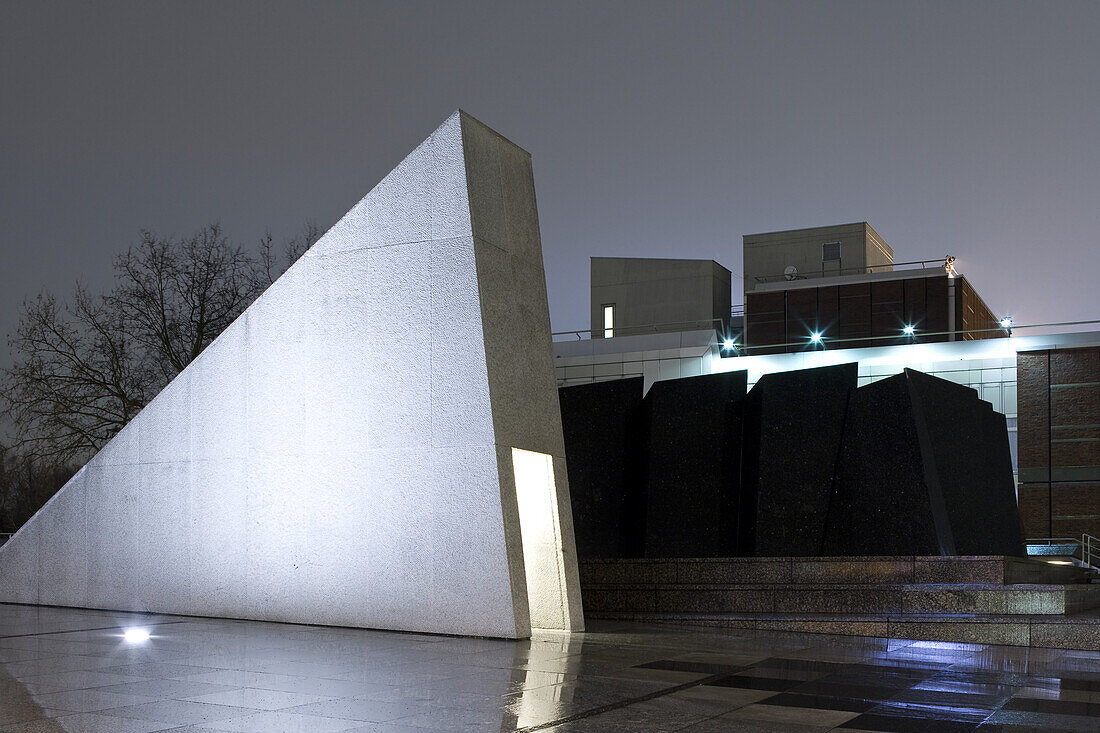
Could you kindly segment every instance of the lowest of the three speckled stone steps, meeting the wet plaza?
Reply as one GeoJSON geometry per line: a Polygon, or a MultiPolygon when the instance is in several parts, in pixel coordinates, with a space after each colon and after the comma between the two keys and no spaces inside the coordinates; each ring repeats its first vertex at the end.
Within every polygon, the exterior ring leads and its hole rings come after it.
{"type": "Polygon", "coordinates": [[[587,619],[660,625],[838,634],[879,638],[1100,650],[1100,614],[944,616],[889,614],[590,613],[587,619]]]}

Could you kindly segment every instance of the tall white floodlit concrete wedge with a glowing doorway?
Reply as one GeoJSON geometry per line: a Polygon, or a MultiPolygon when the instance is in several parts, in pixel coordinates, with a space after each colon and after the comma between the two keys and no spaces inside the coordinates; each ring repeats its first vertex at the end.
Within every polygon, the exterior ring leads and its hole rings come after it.
{"type": "Polygon", "coordinates": [[[0,548],[0,601],[522,637],[513,448],[561,510],[537,617],[581,628],[531,161],[455,112],[0,548]]]}

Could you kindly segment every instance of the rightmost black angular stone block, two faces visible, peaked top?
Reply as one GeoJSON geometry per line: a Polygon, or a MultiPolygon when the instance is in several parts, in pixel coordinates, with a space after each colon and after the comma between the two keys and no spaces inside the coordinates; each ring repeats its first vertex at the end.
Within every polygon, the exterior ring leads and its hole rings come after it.
{"type": "Polygon", "coordinates": [[[827,555],[1022,555],[1004,417],[906,369],[853,396],[827,555]]]}

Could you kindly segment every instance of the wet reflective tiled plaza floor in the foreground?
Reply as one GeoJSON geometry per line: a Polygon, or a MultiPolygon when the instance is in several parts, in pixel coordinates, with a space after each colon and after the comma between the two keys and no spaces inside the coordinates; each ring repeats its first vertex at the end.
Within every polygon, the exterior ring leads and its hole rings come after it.
{"type": "Polygon", "coordinates": [[[0,605],[0,731],[1100,730],[1097,652],[591,626],[506,642],[0,605]]]}

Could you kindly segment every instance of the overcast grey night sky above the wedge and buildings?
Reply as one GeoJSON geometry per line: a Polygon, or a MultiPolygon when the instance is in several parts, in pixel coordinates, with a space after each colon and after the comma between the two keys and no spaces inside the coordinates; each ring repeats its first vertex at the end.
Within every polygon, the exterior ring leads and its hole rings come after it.
{"type": "Polygon", "coordinates": [[[0,331],[141,228],[328,228],[460,107],[534,155],[556,330],[591,255],[739,276],[741,234],[861,220],[1098,318],[1098,39],[1100,2],[3,0],[0,331]]]}

